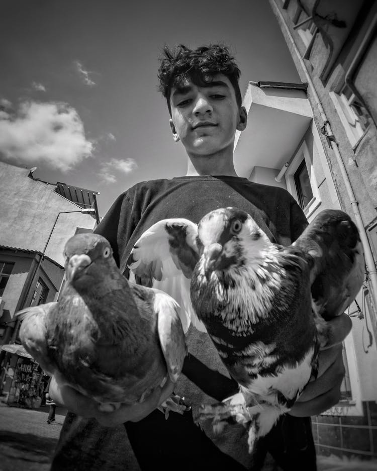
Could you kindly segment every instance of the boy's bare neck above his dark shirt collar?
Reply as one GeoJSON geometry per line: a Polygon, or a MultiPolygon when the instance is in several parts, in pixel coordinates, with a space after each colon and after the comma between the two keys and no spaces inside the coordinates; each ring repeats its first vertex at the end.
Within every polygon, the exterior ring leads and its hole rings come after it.
{"type": "Polygon", "coordinates": [[[233,152],[231,155],[221,153],[205,156],[189,155],[186,176],[196,175],[238,176],[234,169],[233,152]]]}

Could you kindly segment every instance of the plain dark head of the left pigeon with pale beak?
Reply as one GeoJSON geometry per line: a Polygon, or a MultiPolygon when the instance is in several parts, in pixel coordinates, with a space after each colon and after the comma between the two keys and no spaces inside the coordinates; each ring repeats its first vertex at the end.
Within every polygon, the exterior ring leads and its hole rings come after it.
{"type": "Polygon", "coordinates": [[[105,266],[115,265],[110,243],[99,234],[77,234],[64,248],[66,278],[72,284],[99,278],[105,266]]]}

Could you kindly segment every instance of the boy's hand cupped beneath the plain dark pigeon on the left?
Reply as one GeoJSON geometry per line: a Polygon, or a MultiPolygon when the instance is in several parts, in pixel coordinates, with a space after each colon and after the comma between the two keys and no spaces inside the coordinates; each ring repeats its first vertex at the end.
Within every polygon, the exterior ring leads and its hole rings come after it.
{"type": "Polygon", "coordinates": [[[149,415],[171,395],[174,386],[175,384],[168,380],[163,388],[156,388],[144,402],[132,406],[122,405],[113,412],[99,411],[97,402],[83,396],[69,386],[59,384],[55,376],[51,379],[49,392],[57,405],[61,405],[81,417],[93,417],[102,425],[114,427],[127,421],[138,422],[149,415]]]}

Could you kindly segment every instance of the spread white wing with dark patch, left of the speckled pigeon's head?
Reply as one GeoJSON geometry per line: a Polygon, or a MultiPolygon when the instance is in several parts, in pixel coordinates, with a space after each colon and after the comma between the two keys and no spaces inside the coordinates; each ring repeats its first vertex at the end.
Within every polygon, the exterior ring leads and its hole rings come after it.
{"type": "Polygon", "coordinates": [[[206,332],[190,299],[191,275],[199,260],[197,236],[195,223],[163,219],[143,233],[127,260],[130,281],[164,291],[179,304],[184,332],[191,322],[206,332]]]}

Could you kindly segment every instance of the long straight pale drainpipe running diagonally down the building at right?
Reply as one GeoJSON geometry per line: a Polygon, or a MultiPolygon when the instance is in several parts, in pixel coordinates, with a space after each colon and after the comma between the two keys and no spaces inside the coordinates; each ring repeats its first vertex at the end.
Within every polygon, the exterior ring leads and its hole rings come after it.
{"type": "Polygon", "coordinates": [[[365,258],[366,269],[367,269],[367,272],[368,272],[368,275],[369,275],[369,281],[370,281],[370,285],[371,285],[371,288],[372,288],[374,308],[376,309],[377,308],[377,269],[376,269],[376,266],[375,266],[375,262],[374,262],[372,250],[371,250],[371,247],[370,247],[370,244],[369,244],[369,240],[368,240],[368,237],[366,235],[364,223],[362,221],[361,214],[360,214],[359,209],[358,209],[358,202],[357,202],[355,194],[353,192],[352,185],[351,185],[351,182],[349,180],[349,176],[348,176],[346,167],[344,165],[342,156],[340,155],[338,144],[335,141],[335,136],[334,136],[334,134],[331,130],[330,122],[327,119],[327,116],[326,116],[326,114],[323,110],[322,103],[319,99],[317,90],[314,87],[313,80],[312,80],[312,78],[311,78],[311,76],[308,72],[308,69],[306,68],[306,65],[305,65],[305,62],[304,62],[303,58],[300,55],[300,51],[298,50],[298,48],[296,46],[296,43],[295,43],[295,41],[293,39],[293,36],[292,36],[292,34],[289,30],[289,27],[288,27],[284,17],[282,16],[280,10],[278,9],[275,0],[269,0],[269,2],[270,2],[270,5],[272,7],[273,13],[275,14],[275,16],[277,18],[277,21],[280,23],[281,27],[284,29],[284,33],[286,34],[286,37],[288,38],[287,41],[289,41],[289,46],[292,47],[292,49],[295,52],[295,55],[296,55],[300,65],[301,65],[302,71],[305,75],[305,80],[308,82],[308,88],[310,90],[312,98],[313,98],[314,102],[316,103],[316,106],[317,106],[318,111],[319,111],[320,116],[321,116],[321,120],[322,120],[321,130],[324,130],[325,136],[329,139],[332,150],[334,151],[336,161],[339,165],[339,169],[340,169],[340,172],[341,172],[342,177],[343,177],[344,185],[346,187],[346,191],[347,191],[350,203],[351,203],[351,208],[352,208],[352,211],[353,211],[353,215],[355,217],[355,223],[356,223],[356,226],[357,226],[357,228],[359,230],[359,233],[360,233],[360,239],[361,239],[361,243],[362,243],[362,246],[363,246],[363,249],[364,249],[364,258],[365,258]]]}

